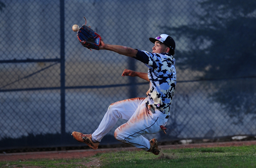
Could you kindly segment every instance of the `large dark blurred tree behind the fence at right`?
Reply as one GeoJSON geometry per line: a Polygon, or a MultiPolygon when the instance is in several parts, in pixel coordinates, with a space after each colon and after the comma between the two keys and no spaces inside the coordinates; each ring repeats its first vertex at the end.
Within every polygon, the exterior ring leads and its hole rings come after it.
{"type": "Polygon", "coordinates": [[[186,51],[178,51],[181,68],[204,72],[212,82],[212,99],[230,117],[242,122],[244,114],[256,114],[256,1],[204,0],[196,23],[166,28],[186,38],[186,51]]]}

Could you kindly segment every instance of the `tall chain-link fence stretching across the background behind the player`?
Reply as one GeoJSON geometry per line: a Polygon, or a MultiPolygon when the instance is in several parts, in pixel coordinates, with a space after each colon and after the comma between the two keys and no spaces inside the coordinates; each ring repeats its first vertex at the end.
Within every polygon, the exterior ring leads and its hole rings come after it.
{"type": "MultiPolygon", "coordinates": [[[[178,81],[167,134],[159,132],[146,138],[156,137],[165,142],[255,136],[256,60],[249,59],[250,66],[240,59],[216,58],[217,65],[223,66],[215,66],[217,72],[212,74],[217,75],[209,76],[214,66],[212,57],[200,58],[199,53],[192,52],[200,50],[209,55],[209,47],[226,40],[215,40],[214,35],[210,38],[206,30],[211,27],[202,26],[207,23],[201,20],[207,15],[206,7],[216,6],[210,2],[0,0],[0,149],[83,145],[72,138],[72,131],[92,133],[111,103],[145,97],[149,88],[146,81],[121,76],[124,69],[146,72],[143,63],[110,51],[82,47],[72,25],[82,26],[83,16],[86,25],[106,43],[152,51],[149,37],[165,33],[176,41],[178,81]],[[196,25],[201,25],[199,32],[194,31],[198,38],[181,32],[196,25]],[[190,59],[195,62],[189,62],[190,59]],[[234,67],[243,73],[231,69],[227,70],[232,73],[229,75],[222,70],[227,75],[220,76],[218,68],[222,67],[234,67]]],[[[255,2],[248,2],[255,7],[255,2]]],[[[215,15],[223,16],[226,22],[236,20],[229,15],[234,4],[217,4],[215,15]],[[221,13],[225,10],[226,15],[221,13]]],[[[244,12],[241,17],[255,21],[255,10],[244,12]]],[[[208,16],[208,22],[216,23],[215,15],[208,16]]],[[[221,22],[225,24],[225,20],[221,22]]],[[[249,23],[237,31],[256,28],[255,22],[249,23]]],[[[256,35],[252,30],[252,47],[245,58],[255,57],[256,35]]],[[[120,119],[115,128],[125,122],[120,119]]],[[[115,128],[101,144],[119,143],[113,136],[115,128]]]]}

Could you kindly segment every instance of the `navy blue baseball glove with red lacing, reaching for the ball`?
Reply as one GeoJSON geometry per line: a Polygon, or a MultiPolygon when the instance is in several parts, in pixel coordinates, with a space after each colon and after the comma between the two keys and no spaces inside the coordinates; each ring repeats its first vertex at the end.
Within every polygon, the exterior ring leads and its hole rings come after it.
{"type": "Polygon", "coordinates": [[[85,24],[82,25],[81,28],[79,28],[76,34],[77,38],[84,47],[90,50],[91,49],[99,50],[101,37],[99,34],[94,32],[94,30],[92,30],[90,27],[86,26],[86,18],[84,19],[85,19],[85,24]]]}

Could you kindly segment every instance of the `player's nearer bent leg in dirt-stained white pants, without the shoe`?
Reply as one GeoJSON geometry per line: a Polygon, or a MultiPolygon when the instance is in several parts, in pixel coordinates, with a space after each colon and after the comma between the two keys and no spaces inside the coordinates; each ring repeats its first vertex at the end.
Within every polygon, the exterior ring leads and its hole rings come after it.
{"type": "Polygon", "coordinates": [[[166,125],[166,115],[156,110],[152,113],[142,103],[135,111],[129,121],[115,130],[115,138],[126,144],[148,151],[150,149],[150,141],[146,139],[144,134],[155,134],[161,130],[160,126],[166,125]]]}

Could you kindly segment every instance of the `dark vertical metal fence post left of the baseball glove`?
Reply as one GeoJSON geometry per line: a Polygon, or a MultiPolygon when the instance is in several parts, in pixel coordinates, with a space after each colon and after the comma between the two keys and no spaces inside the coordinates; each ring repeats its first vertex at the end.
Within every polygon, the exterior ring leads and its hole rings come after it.
{"type": "Polygon", "coordinates": [[[60,0],[60,123],[61,140],[65,142],[65,18],[64,18],[64,0],[60,0]]]}

